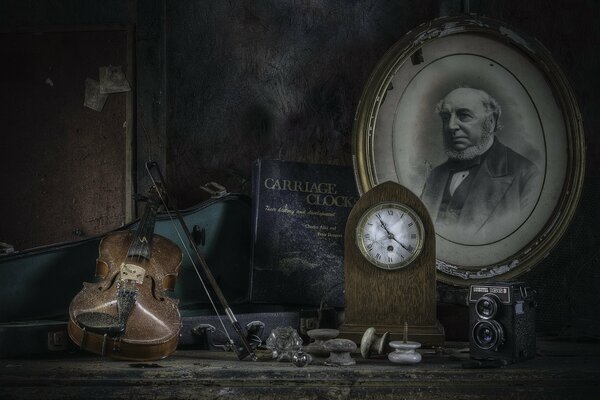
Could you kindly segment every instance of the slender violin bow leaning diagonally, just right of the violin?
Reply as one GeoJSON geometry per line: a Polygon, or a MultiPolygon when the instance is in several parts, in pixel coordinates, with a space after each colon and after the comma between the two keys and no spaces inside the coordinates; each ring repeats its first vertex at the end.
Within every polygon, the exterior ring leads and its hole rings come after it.
{"type": "MultiPolygon", "coordinates": [[[[202,286],[204,287],[204,291],[206,292],[206,295],[208,296],[208,299],[210,300],[210,303],[212,304],[213,309],[217,313],[217,317],[219,318],[219,321],[221,322],[221,326],[223,327],[223,330],[225,331],[225,335],[227,336],[227,339],[229,340],[231,347],[237,354],[238,359],[243,360],[246,357],[250,356],[252,361],[256,361],[258,358],[256,357],[256,354],[252,350],[252,347],[250,347],[250,344],[248,343],[248,340],[247,340],[246,336],[244,335],[244,332],[242,331],[242,327],[241,327],[240,323],[238,322],[237,318],[233,314],[233,311],[231,311],[231,307],[229,307],[229,304],[227,303],[227,300],[225,299],[225,296],[223,295],[221,288],[219,288],[219,285],[217,284],[217,281],[215,280],[212,272],[208,268],[208,265],[206,264],[204,257],[202,257],[202,255],[198,251],[198,246],[195,245],[193,236],[190,233],[190,230],[188,229],[187,225],[185,224],[185,221],[183,220],[183,217],[181,216],[179,209],[175,206],[175,202],[173,201],[173,199],[170,195],[170,192],[168,190],[166,190],[166,183],[165,183],[162,173],[160,172],[158,163],[156,161],[146,162],[146,170],[148,171],[148,174],[150,175],[150,179],[152,180],[153,185],[157,189],[156,192],[158,193],[158,195],[163,203],[163,206],[165,207],[165,210],[166,210],[167,214],[169,215],[169,218],[171,219],[171,221],[173,221],[173,217],[171,216],[171,213],[169,212],[167,203],[173,207],[173,211],[175,212],[175,215],[177,216],[177,219],[179,220],[179,223],[181,225],[181,228],[183,229],[183,232],[187,236],[187,239],[190,243],[190,247],[194,250],[194,253],[196,253],[196,259],[198,260],[198,263],[202,267],[202,271],[204,272],[204,275],[208,279],[208,282],[210,283],[211,288],[213,289],[214,293],[218,297],[219,302],[221,303],[221,306],[223,307],[225,314],[227,315],[227,318],[229,318],[229,321],[231,322],[231,325],[233,326],[233,329],[235,330],[235,332],[237,333],[237,335],[240,338],[240,341],[242,344],[241,349],[235,345],[235,343],[229,336],[229,333],[227,332],[227,329],[225,328],[225,325],[223,324],[223,321],[221,320],[219,311],[217,310],[217,307],[216,307],[215,303],[213,302],[213,299],[208,291],[208,288],[206,287],[206,285],[204,283],[204,280],[202,279],[202,276],[200,275],[200,271],[198,271],[198,268],[196,267],[196,263],[194,263],[193,258],[187,251],[187,246],[184,245],[184,249],[186,250],[187,256],[190,258],[190,261],[192,262],[192,266],[194,267],[194,270],[196,271],[196,274],[198,275],[198,278],[200,279],[200,282],[202,283],[202,286]],[[153,171],[154,171],[154,174],[153,174],[153,171]],[[160,188],[160,190],[159,190],[159,188],[160,188]],[[163,198],[163,195],[167,198],[166,201],[163,198]]],[[[183,244],[183,238],[179,234],[179,230],[177,230],[177,229],[175,229],[175,230],[177,232],[177,235],[179,235],[179,239],[181,240],[181,242],[183,244]]]]}

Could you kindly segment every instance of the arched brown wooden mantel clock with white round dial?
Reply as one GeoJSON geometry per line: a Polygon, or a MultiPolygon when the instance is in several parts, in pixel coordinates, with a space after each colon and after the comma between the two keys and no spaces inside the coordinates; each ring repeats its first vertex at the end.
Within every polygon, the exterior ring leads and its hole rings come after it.
{"type": "Polygon", "coordinates": [[[435,234],[421,200],[395,182],[375,186],[346,223],[346,308],[340,337],[360,343],[369,327],[423,346],[444,343],[436,315],[435,234]]]}

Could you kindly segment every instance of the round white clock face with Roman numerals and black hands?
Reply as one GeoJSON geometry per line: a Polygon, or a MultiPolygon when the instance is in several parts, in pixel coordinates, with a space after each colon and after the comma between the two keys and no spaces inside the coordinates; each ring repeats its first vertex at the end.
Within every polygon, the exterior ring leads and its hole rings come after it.
{"type": "Polygon", "coordinates": [[[398,269],[419,255],[423,232],[423,223],[412,209],[400,203],[381,203],[358,221],[356,245],[376,267],[398,269]]]}

